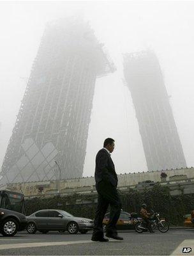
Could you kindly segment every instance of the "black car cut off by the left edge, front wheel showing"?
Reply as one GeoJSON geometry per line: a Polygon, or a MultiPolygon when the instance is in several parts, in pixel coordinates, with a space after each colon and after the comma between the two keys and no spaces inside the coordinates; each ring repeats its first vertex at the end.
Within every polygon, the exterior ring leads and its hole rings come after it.
{"type": "Polygon", "coordinates": [[[14,236],[26,228],[26,216],[22,213],[0,208],[0,232],[3,236],[14,236]]]}

